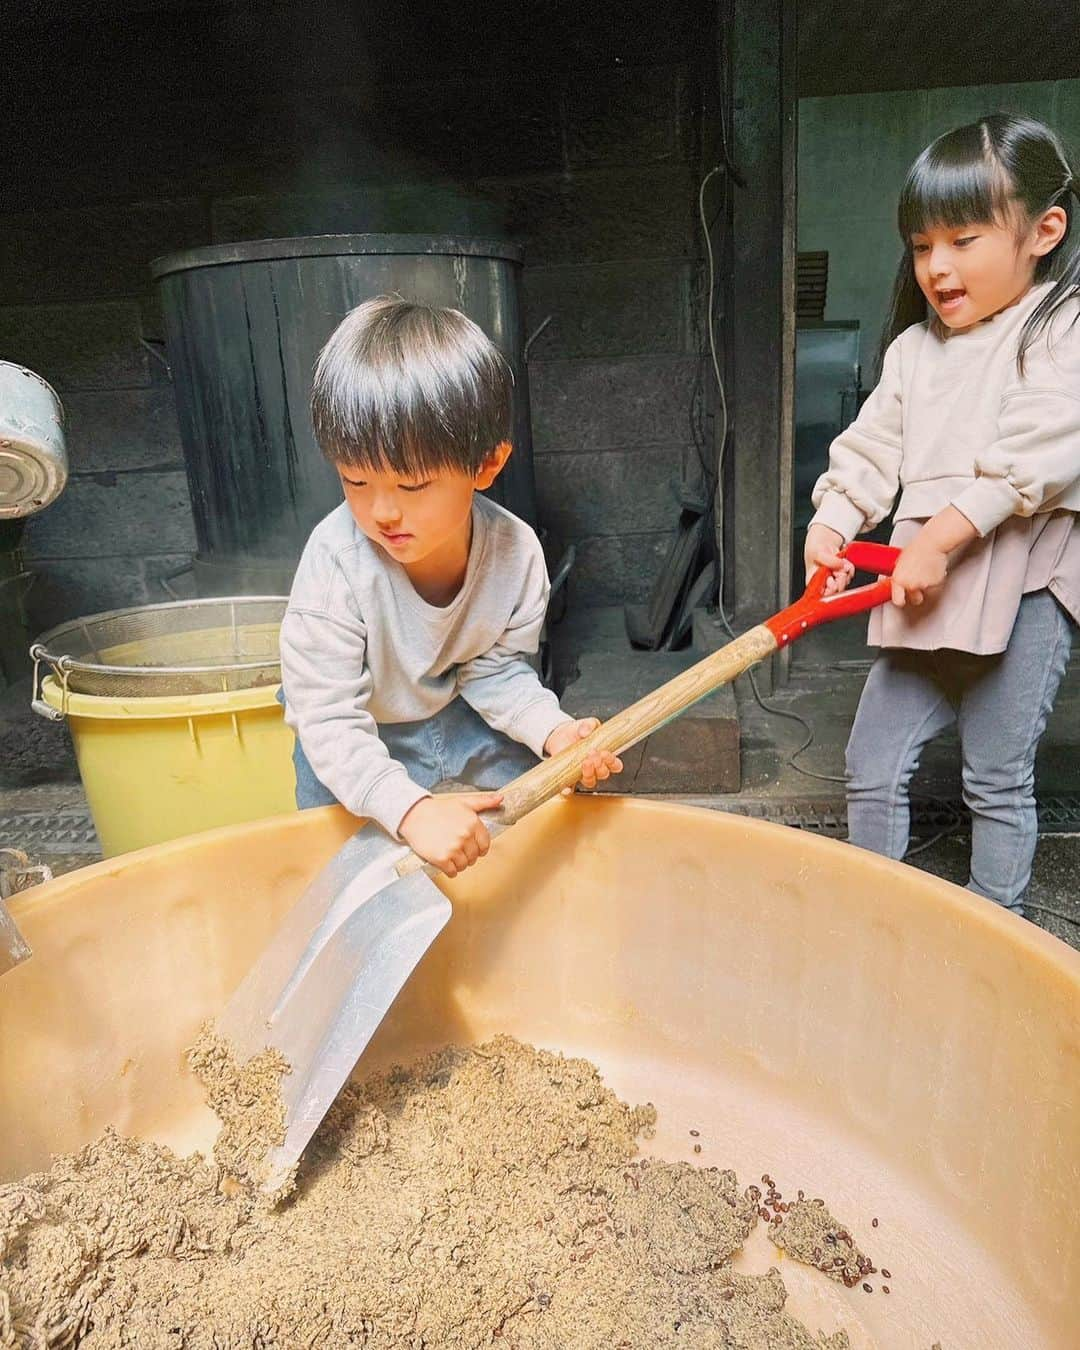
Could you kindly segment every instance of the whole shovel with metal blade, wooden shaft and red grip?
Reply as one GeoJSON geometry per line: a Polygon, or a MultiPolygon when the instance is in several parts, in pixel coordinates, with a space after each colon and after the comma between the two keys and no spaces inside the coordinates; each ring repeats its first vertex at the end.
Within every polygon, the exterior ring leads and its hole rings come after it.
{"type": "MultiPolygon", "coordinates": [[[[891,574],[898,549],[855,543],[844,556],[880,574],[879,580],[826,595],[829,572],[821,568],[794,605],[514,779],[502,790],[502,806],[485,813],[491,834],[576,784],[590,752],[622,753],[809,629],[890,598],[891,583],[882,578],[891,574]]],[[[261,1179],[269,1195],[286,1181],[401,987],[450,919],[451,903],[431,880],[433,871],[381,830],[362,829],[297,900],[216,1019],[239,1062],[273,1048],[290,1065],[281,1084],[285,1139],[269,1152],[261,1179]]]]}

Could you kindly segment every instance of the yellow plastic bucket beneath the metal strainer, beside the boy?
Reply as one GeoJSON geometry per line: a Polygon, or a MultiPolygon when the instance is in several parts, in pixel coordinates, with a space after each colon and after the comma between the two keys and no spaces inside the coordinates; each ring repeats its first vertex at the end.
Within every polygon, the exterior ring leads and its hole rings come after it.
{"type": "Polygon", "coordinates": [[[47,676],[42,699],[72,728],[105,856],[294,810],[293,733],[275,694],[104,698],[47,676]]]}

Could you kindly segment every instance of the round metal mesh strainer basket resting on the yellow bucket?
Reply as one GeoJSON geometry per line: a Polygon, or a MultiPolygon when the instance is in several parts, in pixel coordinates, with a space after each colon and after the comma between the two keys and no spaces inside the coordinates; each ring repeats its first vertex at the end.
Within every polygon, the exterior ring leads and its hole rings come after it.
{"type": "Polygon", "coordinates": [[[30,649],[34,699],[51,671],[65,693],[104,698],[221,694],[281,682],[285,595],[140,605],[74,618],[30,649]]]}

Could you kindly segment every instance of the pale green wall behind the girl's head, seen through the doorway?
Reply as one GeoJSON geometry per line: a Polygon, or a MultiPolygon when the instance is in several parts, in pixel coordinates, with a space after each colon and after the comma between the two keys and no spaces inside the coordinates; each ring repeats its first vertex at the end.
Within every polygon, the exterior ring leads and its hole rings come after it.
{"type": "Polygon", "coordinates": [[[1052,126],[1080,166],[1080,80],[838,94],[799,103],[799,248],[829,251],[828,319],[861,325],[863,382],[872,383],[900,258],[896,198],[934,136],[987,112],[1052,126]]]}

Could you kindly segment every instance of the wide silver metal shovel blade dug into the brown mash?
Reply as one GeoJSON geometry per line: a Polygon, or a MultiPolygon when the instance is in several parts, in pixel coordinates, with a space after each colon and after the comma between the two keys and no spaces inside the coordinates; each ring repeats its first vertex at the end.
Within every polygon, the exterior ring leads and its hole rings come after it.
{"type": "Polygon", "coordinates": [[[360,830],[282,921],[216,1019],[242,1062],[273,1048],[285,1142],[267,1157],[273,1193],[296,1165],[401,987],[446,926],[450,900],[423,872],[398,880],[408,849],[360,830]]]}

